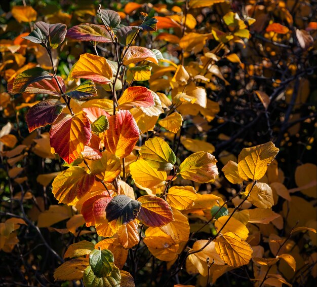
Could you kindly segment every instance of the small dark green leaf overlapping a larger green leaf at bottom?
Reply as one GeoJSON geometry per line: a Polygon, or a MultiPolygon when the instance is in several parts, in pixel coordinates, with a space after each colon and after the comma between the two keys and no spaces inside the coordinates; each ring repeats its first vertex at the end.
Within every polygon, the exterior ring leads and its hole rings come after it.
{"type": "Polygon", "coordinates": [[[113,254],[108,250],[94,249],[89,254],[89,265],[97,277],[107,277],[114,267],[113,254]]]}

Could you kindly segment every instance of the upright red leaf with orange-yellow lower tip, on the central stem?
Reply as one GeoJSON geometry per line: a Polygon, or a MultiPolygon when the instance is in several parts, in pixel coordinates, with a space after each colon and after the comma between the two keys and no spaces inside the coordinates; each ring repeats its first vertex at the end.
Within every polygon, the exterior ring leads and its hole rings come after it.
{"type": "Polygon", "coordinates": [[[140,135],[135,119],[129,111],[120,110],[108,120],[103,139],[106,151],[119,158],[130,155],[140,135]]]}

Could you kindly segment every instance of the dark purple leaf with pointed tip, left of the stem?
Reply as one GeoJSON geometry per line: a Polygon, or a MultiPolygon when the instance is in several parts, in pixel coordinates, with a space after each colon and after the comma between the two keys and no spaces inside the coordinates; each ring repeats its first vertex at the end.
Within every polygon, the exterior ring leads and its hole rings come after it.
{"type": "Polygon", "coordinates": [[[40,101],[30,107],[25,115],[29,132],[54,123],[64,107],[66,107],[66,103],[61,103],[57,99],[40,101]]]}

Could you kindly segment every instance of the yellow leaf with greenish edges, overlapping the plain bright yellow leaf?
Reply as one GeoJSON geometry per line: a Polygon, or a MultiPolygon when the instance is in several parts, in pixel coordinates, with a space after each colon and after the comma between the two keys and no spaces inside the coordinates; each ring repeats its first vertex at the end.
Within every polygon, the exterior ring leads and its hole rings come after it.
{"type": "Polygon", "coordinates": [[[176,156],[168,143],[157,136],[149,138],[139,153],[149,166],[160,170],[171,170],[176,162],[176,156]]]}

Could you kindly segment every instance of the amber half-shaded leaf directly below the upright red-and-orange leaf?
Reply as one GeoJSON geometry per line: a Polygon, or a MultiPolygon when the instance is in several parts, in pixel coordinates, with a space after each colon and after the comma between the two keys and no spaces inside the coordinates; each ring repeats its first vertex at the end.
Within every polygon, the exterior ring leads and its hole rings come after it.
{"type": "Polygon", "coordinates": [[[121,162],[118,157],[108,152],[101,153],[102,158],[90,163],[91,172],[106,183],[113,182],[121,172],[121,162]]]}

